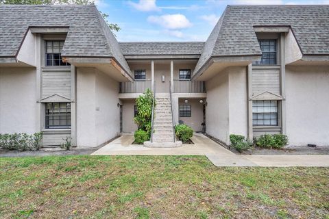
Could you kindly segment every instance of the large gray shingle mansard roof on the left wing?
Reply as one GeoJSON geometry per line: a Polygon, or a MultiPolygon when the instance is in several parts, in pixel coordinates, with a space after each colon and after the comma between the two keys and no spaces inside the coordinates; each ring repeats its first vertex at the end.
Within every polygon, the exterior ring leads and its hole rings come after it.
{"type": "Polygon", "coordinates": [[[0,5],[0,56],[15,56],[28,27],[69,27],[62,55],[114,57],[130,73],[95,5],[0,5]]]}

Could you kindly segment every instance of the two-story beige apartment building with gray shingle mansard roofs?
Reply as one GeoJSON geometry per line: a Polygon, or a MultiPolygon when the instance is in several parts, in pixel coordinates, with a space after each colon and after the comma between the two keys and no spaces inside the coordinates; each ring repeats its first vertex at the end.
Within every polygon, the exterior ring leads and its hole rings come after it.
{"type": "Polygon", "coordinates": [[[329,5],[230,5],[206,42],[117,42],[93,5],[1,5],[0,133],[97,146],[136,130],[150,88],[163,127],[329,145],[328,21],[329,5]]]}

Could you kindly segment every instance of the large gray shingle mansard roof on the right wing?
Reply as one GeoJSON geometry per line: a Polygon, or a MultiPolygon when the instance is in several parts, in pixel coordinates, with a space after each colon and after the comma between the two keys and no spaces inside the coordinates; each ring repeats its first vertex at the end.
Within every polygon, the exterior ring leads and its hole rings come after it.
{"type": "Polygon", "coordinates": [[[329,5],[229,5],[195,72],[212,56],[259,55],[254,26],[290,26],[304,55],[329,54],[329,5]]]}

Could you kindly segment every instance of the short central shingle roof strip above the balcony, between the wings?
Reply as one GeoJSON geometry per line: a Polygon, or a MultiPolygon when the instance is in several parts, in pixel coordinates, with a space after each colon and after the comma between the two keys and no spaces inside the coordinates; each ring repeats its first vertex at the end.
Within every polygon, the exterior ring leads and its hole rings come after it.
{"type": "Polygon", "coordinates": [[[119,42],[123,55],[199,55],[204,42],[119,42]]]}

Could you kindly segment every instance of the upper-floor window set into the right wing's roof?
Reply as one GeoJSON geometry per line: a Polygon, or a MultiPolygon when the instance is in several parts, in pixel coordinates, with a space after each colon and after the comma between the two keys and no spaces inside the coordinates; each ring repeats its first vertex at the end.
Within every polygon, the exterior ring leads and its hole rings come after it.
{"type": "Polygon", "coordinates": [[[258,40],[262,50],[262,59],[254,64],[278,64],[277,40],[258,40]]]}

